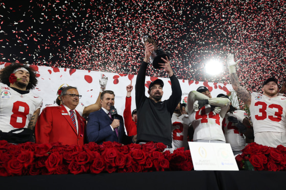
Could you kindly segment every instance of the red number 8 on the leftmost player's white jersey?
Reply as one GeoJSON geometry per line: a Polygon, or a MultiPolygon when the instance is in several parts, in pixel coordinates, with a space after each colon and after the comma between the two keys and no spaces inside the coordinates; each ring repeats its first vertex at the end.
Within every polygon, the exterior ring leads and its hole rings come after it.
{"type": "Polygon", "coordinates": [[[12,125],[14,128],[23,128],[26,125],[27,115],[29,114],[30,108],[29,105],[22,101],[16,101],[13,103],[11,120],[10,125],[12,125]],[[23,112],[19,111],[19,108],[23,107],[23,112]],[[20,121],[20,122],[17,122],[20,121]]]}

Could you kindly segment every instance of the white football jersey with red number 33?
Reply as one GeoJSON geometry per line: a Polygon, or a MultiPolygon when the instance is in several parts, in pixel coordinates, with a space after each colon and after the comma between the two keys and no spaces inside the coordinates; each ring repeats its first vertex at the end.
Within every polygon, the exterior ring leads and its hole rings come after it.
{"type": "Polygon", "coordinates": [[[249,107],[254,134],[257,132],[286,132],[286,97],[269,98],[252,92],[249,107]]]}

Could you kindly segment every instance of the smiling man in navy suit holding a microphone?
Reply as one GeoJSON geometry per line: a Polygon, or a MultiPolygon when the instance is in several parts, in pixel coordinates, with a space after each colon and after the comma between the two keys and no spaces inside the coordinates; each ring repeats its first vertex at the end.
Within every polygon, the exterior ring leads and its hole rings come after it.
{"type": "Polygon", "coordinates": [[[124,145],[136,142],[136,135],[128,137],[125,133],[123,117],[111,117],[110,107],[114,106],[114,92],[103,91],[100,97],[101,109],[92,112],[86,126],[88,142],[102,144],[105,141],[119,142],[124,145]]]}

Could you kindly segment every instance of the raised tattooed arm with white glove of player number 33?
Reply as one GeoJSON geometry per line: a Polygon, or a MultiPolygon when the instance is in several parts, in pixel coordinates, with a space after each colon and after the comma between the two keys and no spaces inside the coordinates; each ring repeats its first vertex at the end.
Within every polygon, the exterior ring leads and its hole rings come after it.
{"type": "Polygon", "coordinates": [[[237,77],[235,66],[239,63],[240,60],[234,62],[233,55],[229,54],[227,56],[227,65],[230,74],[230,80],[233,90],[235,90],[237,96],[239,96],[243,102],[248,106],[251,103],[251,94],[240,85],[239,77],[237,77]]]}

